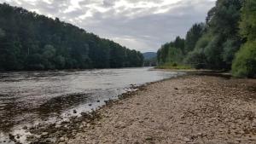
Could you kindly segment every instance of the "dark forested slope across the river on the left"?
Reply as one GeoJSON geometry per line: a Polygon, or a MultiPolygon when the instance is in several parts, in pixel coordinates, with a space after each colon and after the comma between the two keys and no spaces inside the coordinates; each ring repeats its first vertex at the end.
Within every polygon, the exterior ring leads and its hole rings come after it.
{"type": "Polygon", "coordinates": [[[143,66],[143,55],[77,26],[0,4],[0,71],[143,66]]]}

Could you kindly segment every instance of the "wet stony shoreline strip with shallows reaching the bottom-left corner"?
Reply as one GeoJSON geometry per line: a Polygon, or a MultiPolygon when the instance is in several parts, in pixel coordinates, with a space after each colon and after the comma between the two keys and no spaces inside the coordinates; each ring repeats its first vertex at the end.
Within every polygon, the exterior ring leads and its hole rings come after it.
{"type": "MultiPolygon", "coordinates": [[[[172,78],[183,77],[182,75],[177,75],[172,78]]],[[[118,95],[117,99],[109,99],[108,101],[104,101],[104,105],[101,107],[97,107],[96,109],[91,109],[90,112],[79,112],[75,116],[67,118],[64,121],[49,122],[49,124],[41,121],[40,123],[33,125],[25,125],[20,127],[18,131],[21,133],[3,133],[3,139],[0,143],[58,143],[60,141],[60,135],[64,135],[69,132],[72,133],[74,130],[79,131],[79,124],[85,122],[86,124],[94,124],[95,120],[99,117],[98,111],[106,107],[112,107],[114,104],[118,103],[121,100],[129,98],[131,95],[135,95],[137,91],[143,90],[149,84],[160,83],[162,81],[168,80],[171,78],[164,78],[155,82],[149,82],[141,85],[130,84],[129,89],[124,94],[118,95]],[[7,136],[7,137],[6,137],[7,136]]],[[[74,109],[75,113],[77,113],[76,109],[74,109]]],[[[61,118],[62,119],[62,118],[61,118]]],[[[73,135],[69,135],[73,136],[73,135]]]]}

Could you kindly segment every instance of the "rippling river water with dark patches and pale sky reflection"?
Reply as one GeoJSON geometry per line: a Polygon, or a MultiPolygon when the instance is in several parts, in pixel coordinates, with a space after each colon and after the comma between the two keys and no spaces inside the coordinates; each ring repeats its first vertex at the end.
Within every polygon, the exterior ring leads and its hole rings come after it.
{"type": "Polygon", "coordinates": [[[139,86],[183,74],[149,69],[0,73],[0,134],[20,125],[89,112],[133,90],[131,84],[139,86]]]}

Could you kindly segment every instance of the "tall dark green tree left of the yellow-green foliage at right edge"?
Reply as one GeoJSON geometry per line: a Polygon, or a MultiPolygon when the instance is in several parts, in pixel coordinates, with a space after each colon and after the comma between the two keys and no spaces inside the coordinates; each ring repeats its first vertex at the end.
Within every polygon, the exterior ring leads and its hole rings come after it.
{"type": "Polygon", "coordinates": [[[206,33],[212,37],[204,47],[207,68],[230,69],[231,61],[241,44],[238,36],[240,9],[240,0],[218,0],[216,6],[209,11],[206,33]]]}

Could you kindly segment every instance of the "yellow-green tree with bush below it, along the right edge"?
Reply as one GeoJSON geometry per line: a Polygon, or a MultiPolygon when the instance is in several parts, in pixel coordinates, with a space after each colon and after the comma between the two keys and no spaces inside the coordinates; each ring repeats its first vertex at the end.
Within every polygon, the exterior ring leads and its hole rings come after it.
{"type": "Polygon", "coordinates": [[[236,54],[232,73],[236,77],[256,77],[256,1],[246,0],[241,9],[240,33],[247,42],[236,54]]]}

